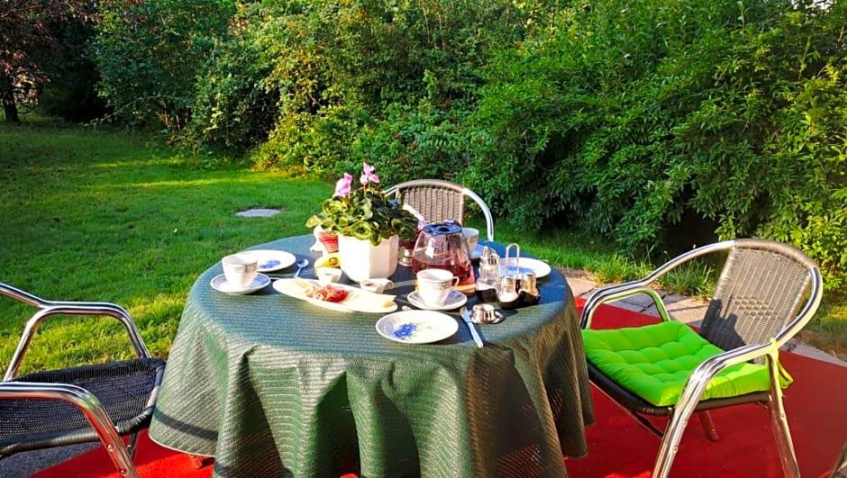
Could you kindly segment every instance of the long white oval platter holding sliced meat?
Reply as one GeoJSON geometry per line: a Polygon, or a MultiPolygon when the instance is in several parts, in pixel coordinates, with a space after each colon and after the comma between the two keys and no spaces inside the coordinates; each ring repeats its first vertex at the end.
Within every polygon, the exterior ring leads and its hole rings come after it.
{"type": "Polygon", "coordinates": [[[387,293],[372,293],[363,291],[359,287],[353,287],[347,284],[332,284],[332,287],[340,287],[347,291],[347,297],[342,302],[327,302],[313,299],[305,294],[306,289],[314,285],[320,287],[317,281],[311,279],[278,279],[274,282],[274,289],[284,293],[289,297],[300,299],[301,301],[314,303],[318,307],[324,309],[332,309],[333,311],[360,311],[371,313],[388,313],[397,310],[397,304],[394,302],[396,295],[387,293]]]}

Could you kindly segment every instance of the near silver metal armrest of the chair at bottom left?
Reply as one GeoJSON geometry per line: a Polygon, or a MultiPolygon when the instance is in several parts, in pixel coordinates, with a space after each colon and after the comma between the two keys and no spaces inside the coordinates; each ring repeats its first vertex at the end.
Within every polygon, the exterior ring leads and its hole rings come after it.
{"type": "Polygon", "coordinates": [[[74,405],[96,430],[115,467],[121,471],[121,475],[138,477],[123,439],[118,435],[112,420],[109,419],[109,415],[93,393],[80,386],[65,383],[2,382],[0,383],[0,400],[4,399],[54,400],[74,405]]]}

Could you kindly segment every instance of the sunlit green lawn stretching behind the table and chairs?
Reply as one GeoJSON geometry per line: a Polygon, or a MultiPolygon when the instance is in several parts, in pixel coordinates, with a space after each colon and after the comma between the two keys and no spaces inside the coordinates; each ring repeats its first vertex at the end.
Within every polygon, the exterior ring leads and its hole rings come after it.
{"type": "MultiPolygon", "coordinates": [[[[41,119],[0,124],[0,151],[0,281],[45,299],[119,303],[155,356],[167,356],[198,274],[232,251],[308,232],[306,218],[332,190],[246,167],[204,169],[140,136],[41,119]],[[254,207],[282,212],[235,215],[254,207]]],[[[569,231],[538,234],[498,223],[496,237],[602,282],[651,270],[614,245],[569,231]]],[[[703,272],[663,285],[697,291],[703,272]]],[[[847,351],[844,303],[843,296],[829,300],[808,328],[825,350],[847,351]]],[[[33,310],[3,297],[0,311],[5,369],[33,310]]],[[[39,330],[22,372],[131,355],[114,320],[62,317],[39,330]]]]}

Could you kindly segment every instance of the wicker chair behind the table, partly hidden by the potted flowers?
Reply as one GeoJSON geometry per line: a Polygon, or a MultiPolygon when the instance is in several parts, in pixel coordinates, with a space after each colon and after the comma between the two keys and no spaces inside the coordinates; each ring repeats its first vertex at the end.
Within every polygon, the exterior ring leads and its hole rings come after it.
{"type": "Polygon", "coordinates": [[[494,218],[485,201],[463,185],[442,179],[415,179],[394,185],[386,193],[409,204],[420,212],[427,222],[442,222],[449,219],[465,221],[465,198],[478,204],[486,217],[486,237],[494,240],[494,218]]]}

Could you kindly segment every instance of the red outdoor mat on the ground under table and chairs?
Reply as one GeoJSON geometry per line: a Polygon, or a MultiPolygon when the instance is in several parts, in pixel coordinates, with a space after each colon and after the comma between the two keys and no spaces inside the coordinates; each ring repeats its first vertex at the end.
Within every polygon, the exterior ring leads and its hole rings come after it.
{"type": "MultiPolygon", "coordinates": [[[[581,306],[582,302],[578,301],[581,306]]],[[[651,323],[656,318],[604,306],[597,312],[595,327],[651,323]]],[[[780,355],[794,377],[785,391],[791,436],[804,477],[828,476],[842,446],[847,442],[847,367],[791,353],[780,355]]],[[[588,455],[567,459],[576,477],[646,477],[651,475],[659,439],[638,425],[602,393],[592,390],[597,424],[587,429],[588,455]]],[[[758,405],[742,405],[712,412],[720,440],[709,441],[693,419],[683,437],[671,476],[779,477],[776,442],[770,431],[768,411],[758,405]]],[[[660,428],[666,421],[657,419],[660,428]]],[[[141,435],[135,464],[143,477],[209,477],[212,466],[200,468],[188,455],[168,450],[141,435]]],[[[112,462],[98,447],[33,475],[35,478],[114,477],[112,462]]]]}

